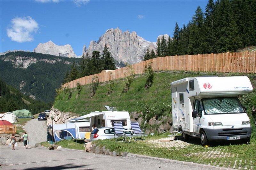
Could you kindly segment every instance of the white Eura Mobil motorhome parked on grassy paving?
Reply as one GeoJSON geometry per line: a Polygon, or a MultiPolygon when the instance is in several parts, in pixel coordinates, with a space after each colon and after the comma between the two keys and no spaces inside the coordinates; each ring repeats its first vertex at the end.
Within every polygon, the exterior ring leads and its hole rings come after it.
{"type": "Polygon", "coordinates": [[[202,145],[214,140],[250,142],[250,119],[237,98],[252,92],[248,77],[188,77],[171,85],[173,129],[181,131],[184,140],[200,137],[202,145]]]}

